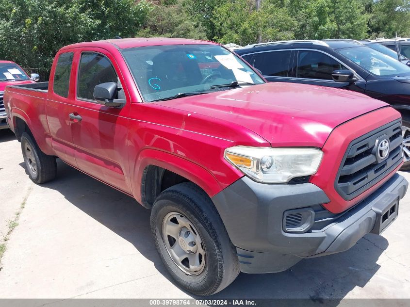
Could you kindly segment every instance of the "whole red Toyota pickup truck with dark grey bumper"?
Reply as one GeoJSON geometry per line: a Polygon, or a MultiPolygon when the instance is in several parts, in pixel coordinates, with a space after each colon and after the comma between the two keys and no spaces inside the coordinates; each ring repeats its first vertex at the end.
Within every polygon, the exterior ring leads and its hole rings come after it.
{"type": "Polygon", "coordinates": [[[49,82],[8,86],[4,102],[34,182],[55,178],[58,157],[134,197],[165,267],[198,295],[381,233],[408,187],[389,105],[266,83],[212,42],[70,45],[49,82]]]}

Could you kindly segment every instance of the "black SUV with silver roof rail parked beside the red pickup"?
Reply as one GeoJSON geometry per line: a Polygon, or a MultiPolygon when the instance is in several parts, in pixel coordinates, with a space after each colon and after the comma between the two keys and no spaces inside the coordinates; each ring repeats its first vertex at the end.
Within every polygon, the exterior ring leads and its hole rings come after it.
{"type": "Polygon", "coordinates": [[[270,82],[356,91],[389,103],[403,117],[403,170],[410,169],[410,67],[354,40],[281,41],[235,50],[270,82]]]}

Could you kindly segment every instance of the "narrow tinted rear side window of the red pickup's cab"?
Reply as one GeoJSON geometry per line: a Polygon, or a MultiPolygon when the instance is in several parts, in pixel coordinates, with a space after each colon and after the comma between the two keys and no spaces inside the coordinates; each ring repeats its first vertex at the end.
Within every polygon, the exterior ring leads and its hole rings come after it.
{"type": "Polygon", "coordinates": [[[73,52],[60,54],[54,72],[53,91],[61,97],[68,97],[70,84],[71,66],[73,63],[73,52]]]}

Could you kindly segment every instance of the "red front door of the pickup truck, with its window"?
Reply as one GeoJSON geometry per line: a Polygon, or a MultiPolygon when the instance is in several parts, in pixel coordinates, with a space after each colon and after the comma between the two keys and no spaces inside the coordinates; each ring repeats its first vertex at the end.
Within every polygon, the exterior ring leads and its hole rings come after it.
{"type": "MultiPolygon", "coordinates": [[[[93,97],[100,83],[124,84],[115,59],[105,50],[83,49],[77,56],[75,98],[71,125],[79,169],[131,194],[127,150],[130,98],[122,108],[98,104],[93,97]]],[[[124,91],[124,89],[122,89],[124,91]]]]}

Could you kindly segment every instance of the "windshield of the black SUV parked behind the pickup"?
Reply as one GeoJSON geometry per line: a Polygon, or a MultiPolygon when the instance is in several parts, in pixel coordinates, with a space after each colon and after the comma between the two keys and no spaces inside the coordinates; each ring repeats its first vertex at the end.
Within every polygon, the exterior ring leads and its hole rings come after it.
{"type": "Polygon", "coordinates": [[[349,60],[368,72],[382,77],[395,77],[410,74],[410,67],[392,59],[390,56],[368,47],[352,47],[337,50],[349,60]]]}

